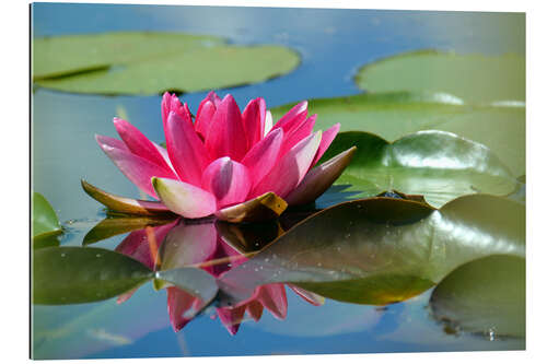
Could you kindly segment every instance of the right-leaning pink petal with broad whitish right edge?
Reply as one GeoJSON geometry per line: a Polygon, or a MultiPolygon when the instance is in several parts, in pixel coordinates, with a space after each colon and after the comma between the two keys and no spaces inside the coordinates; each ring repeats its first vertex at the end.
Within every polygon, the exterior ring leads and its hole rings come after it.
{"type": "Polygon", "coordinates": [[[317,152],[321,131],[301,140],[279,162],[271,172],[253,189],[251,197],[272,191],[281,198],[289,195],[304,178],[317,152]]]}

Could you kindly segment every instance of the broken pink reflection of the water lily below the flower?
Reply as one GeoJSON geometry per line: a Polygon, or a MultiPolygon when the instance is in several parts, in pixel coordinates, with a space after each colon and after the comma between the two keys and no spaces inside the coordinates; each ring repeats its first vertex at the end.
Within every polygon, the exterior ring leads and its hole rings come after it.
{"type": "MultiPolygon", "coordinates": [[[[238,226],[212,220],[177,219],[165,225],[147,226],[131,232],[116,247],[116,251],[139,260],[150,269],[167,270],[191,266],[220,278],[230,269],[248,260],[255,251],[274,240],[283,231],[279,222],[238,226]]],[[[183,329],[203,309],[200,298],[188,292],[163,283],[156,286],[166,289],[167,312],[175,331],[183,329]]],[[[314,293],[291,284],[288,286],[313,305],[324,303],[324,298],[314,293]]],[[[136,290],[120,295],[117,302],[124,303],[129,300],[136,290]]],[[[264,308],[277,319],[282,320],[287,317],[284,284],[258,286],[249,298],[233,306],[217,307],[212,318],[217,316],[228,331],[235,334],[240,324],[245,319],[245,314],[258,321],[264,308]]]]}

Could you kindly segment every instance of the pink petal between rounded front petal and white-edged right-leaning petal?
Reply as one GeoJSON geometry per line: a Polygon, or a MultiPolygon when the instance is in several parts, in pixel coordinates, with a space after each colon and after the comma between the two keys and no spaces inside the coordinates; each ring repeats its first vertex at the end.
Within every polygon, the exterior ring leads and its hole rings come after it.
{"type": "Polygon", "coordinates": [[[242,164],[248,168],[254,185],[260,181],[276,164],[282,140],[283,129],[276,129],[256,143],[243,158],[242,164]]]}

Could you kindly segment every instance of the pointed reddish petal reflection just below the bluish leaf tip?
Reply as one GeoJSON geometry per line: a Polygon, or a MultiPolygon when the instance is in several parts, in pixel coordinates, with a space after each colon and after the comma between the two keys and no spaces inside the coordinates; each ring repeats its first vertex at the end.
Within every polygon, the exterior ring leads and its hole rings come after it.
{"type": "Polygon", "coordinates": [[[167,313],[170,315],[171,326],[173,326],[175,332],[178,332],[186,324],[191,321],[199,312],[201,300],[194,297],[191,294],[176,286],[170,286],[166,290],[167,313]]]}

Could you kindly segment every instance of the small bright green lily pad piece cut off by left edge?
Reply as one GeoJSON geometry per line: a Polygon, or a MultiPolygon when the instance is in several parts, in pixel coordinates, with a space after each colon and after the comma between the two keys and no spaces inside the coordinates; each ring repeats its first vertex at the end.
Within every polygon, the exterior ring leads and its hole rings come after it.
{"type": "Polygon", "coordinates": [[[33,192],[32,203],[33,240],[48,238],[62,233],[57,214],[44,196],[33,192]]]}

